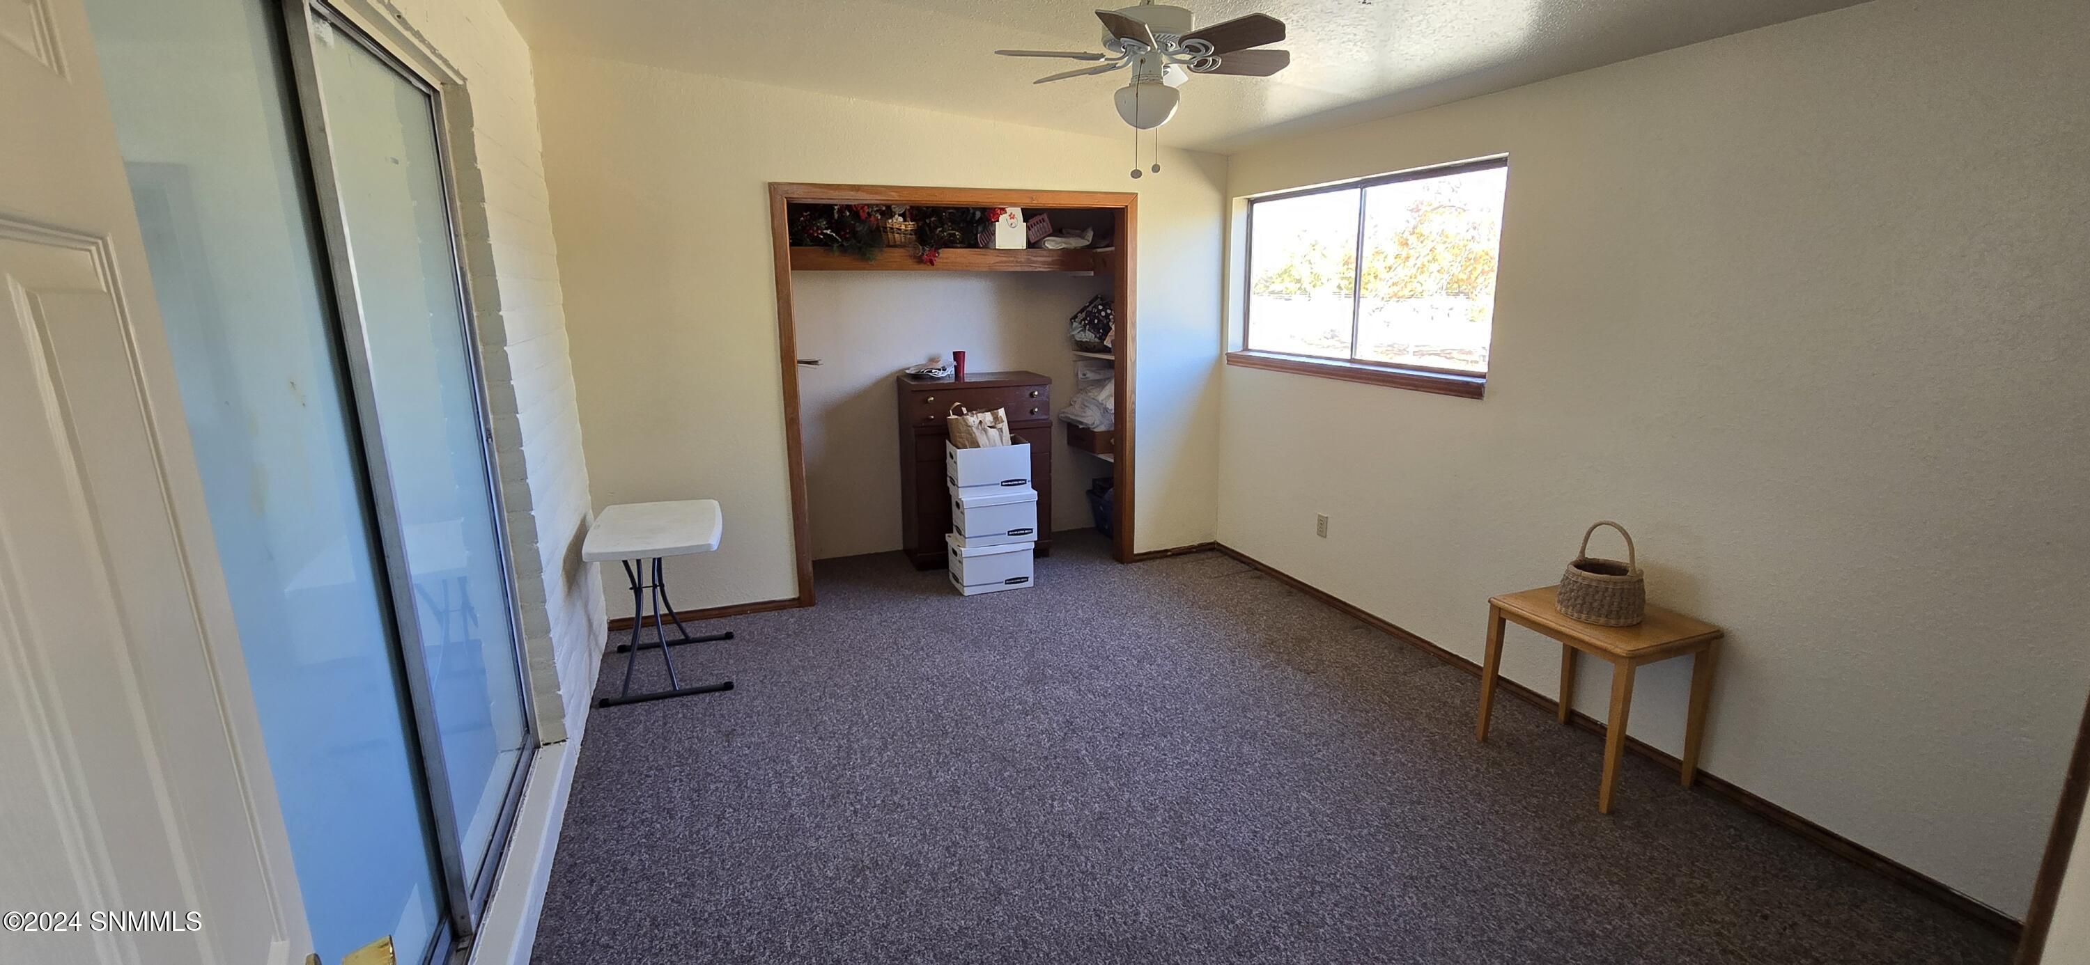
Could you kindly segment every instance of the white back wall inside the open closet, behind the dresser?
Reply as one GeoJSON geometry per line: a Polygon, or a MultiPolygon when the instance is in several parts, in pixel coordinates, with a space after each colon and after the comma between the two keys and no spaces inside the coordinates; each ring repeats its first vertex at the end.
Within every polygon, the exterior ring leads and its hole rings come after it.
{"type": "MultiPolygon", "coordinates": [[[[798,272],[798,355],[823,361],[798,370],[813,558],[901,547],[895,372],[961,349],[970,372],[1051,378],[1047,414],[1058,414],[1074,393],[1066,320],[1095,295],[1110,295],[1110,276],[798,272]]],[[[1030,416],[1012,409],[1009,418],[1030,416]]],[[[1110,476],[1110,464],[1068,449],[1058,426],[1030,439],[1053,447],[1053,528],[1091,526],[1083,493],[1091,478],[1110,476]]]]}

